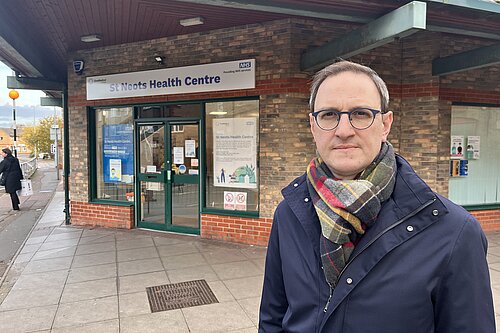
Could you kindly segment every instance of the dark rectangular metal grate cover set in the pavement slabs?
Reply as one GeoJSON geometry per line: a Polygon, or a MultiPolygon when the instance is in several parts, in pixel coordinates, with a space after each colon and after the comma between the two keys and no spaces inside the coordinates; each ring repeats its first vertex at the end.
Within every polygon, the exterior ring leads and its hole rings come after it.
{"type": "Polygon", "coordinates": [[[151,312],[219,303],[205,280],[147,287],[146,292],[151,312]]]}

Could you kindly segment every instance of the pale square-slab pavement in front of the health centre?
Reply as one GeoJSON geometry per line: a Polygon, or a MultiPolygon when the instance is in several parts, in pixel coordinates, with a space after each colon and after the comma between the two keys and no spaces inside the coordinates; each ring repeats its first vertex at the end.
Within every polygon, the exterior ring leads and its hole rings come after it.
{"type": "MultiPolygon", "coordinates": [[[[0,332],[257,331],[264,248],[65,226],[63,208],[59,184],[3,277],[0,332]],[[146,287],[199,279],[218,303],[152,313],[146,287]]],[[[500,311],[500,232],[487,236],[500,311]]]]}

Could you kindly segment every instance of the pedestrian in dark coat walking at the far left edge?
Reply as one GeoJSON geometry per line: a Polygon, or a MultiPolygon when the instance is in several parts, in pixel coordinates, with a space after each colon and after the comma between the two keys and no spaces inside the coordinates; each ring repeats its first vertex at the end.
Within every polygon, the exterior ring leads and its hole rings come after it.
{"type": "Polygon", "coordinates": [[[23,172],[19,165],[19,160],[12,156],[12,151],[9,148],[3,148],[1,152],[3,161],[0,162],[1,178],[5,179],[5,192],[10,194],[12,201],[12,209],[19,210],[19,197],[17,191],[21,189],[21,179],[23,172]]]}

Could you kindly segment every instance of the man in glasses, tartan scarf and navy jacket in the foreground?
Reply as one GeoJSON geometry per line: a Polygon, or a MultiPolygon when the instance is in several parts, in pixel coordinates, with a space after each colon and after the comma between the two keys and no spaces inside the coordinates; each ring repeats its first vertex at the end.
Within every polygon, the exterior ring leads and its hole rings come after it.
{"type": "Polygon", "coordinates": [[[368,67],[314,77],[317,158],[282,191],[259,332],[495,332],[486,238],[394,154],[388,104],[368,67]]]}

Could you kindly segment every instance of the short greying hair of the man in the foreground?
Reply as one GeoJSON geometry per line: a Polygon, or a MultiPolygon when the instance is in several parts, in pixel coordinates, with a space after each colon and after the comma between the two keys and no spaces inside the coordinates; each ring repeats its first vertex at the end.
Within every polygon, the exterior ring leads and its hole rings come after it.
{"type": "Polygon", "coordinates": [[[357,64],[355,62],[342,60],[335,62],[321,70],[319,70],[313,77],[311,83],[311,97],[309,99],[309,110],[314,112],[314,103],[316,102],[316,95],[318,94],[319,87],[330,76],[335,76],[343,72],[353,72],[358,74],[367,75],[377,87],[380,94],[380,108],[383,113],[389,110],[389,91],[387,86],[380,78],[380,76],[373,69],[367,66],[357,64]]]}

